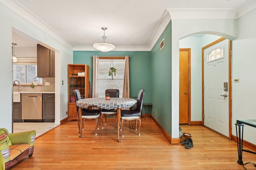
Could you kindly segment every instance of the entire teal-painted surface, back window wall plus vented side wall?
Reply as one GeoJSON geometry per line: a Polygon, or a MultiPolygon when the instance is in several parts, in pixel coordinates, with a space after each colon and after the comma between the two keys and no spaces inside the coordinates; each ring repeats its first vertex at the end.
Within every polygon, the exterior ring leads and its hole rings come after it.
{"type": "Polygon", "coordinates": [[[74,64],[90,66],[92,82],[92,55],[99,57],[130,56],[130,97],[144,89],[144,103],[152,103],[152,116],[171,136],[172,134],[172,23],[166,26],[152,51],[74,51],[74,64]],[[160,51],[160,42],[164,48],[160,51]],[[155,112],[155,115],[153,114],[155,112]]]}

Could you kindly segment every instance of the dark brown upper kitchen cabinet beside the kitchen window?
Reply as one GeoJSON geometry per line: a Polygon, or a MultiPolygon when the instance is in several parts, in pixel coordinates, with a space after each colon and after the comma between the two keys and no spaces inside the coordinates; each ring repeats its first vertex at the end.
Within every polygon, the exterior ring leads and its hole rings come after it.
{"type": "Polygon", "coordinates": [[[55,77],[55,51],[37,44],[37,76],[55,77]]]}

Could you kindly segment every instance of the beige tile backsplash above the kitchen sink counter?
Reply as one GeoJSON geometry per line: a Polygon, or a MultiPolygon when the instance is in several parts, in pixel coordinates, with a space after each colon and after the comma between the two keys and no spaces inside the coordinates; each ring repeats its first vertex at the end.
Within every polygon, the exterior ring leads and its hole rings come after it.
{"type": "MultiPolygon", "coordinates": [[[[34,86],[20,85],[22,92],[55,92],[55,78],[43,78],[42,85],[34,86]],[[50,86],[45,86],[45,82],[50,82],[50,86]]],[[[13,91],[18,92],[18,84],[13,86],[13,91]]]]}

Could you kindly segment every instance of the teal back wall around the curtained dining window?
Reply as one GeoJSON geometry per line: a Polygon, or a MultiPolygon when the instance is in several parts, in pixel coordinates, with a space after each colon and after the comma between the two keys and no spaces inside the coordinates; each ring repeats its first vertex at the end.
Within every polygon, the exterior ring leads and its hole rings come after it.
{"type": "Polygon", "coordinates": [[[92,56],[124,57],[130,56],[130,97],[137,97],[140,89],[145,90],[144,103],[151,103],[151,61],[150,51],[74,51],[74,64],[87,64],[90,66],[90,82],[92,90],[92,56]]]}

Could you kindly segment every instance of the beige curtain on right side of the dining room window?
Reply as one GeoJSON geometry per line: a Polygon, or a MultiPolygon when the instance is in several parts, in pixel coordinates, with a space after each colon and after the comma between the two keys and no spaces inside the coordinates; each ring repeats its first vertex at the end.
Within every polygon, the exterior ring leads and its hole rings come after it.
{"type": "Polygon", "coordinates": [[[130,98],[129,56],[125,56],[123,98],[130,98]]]}

